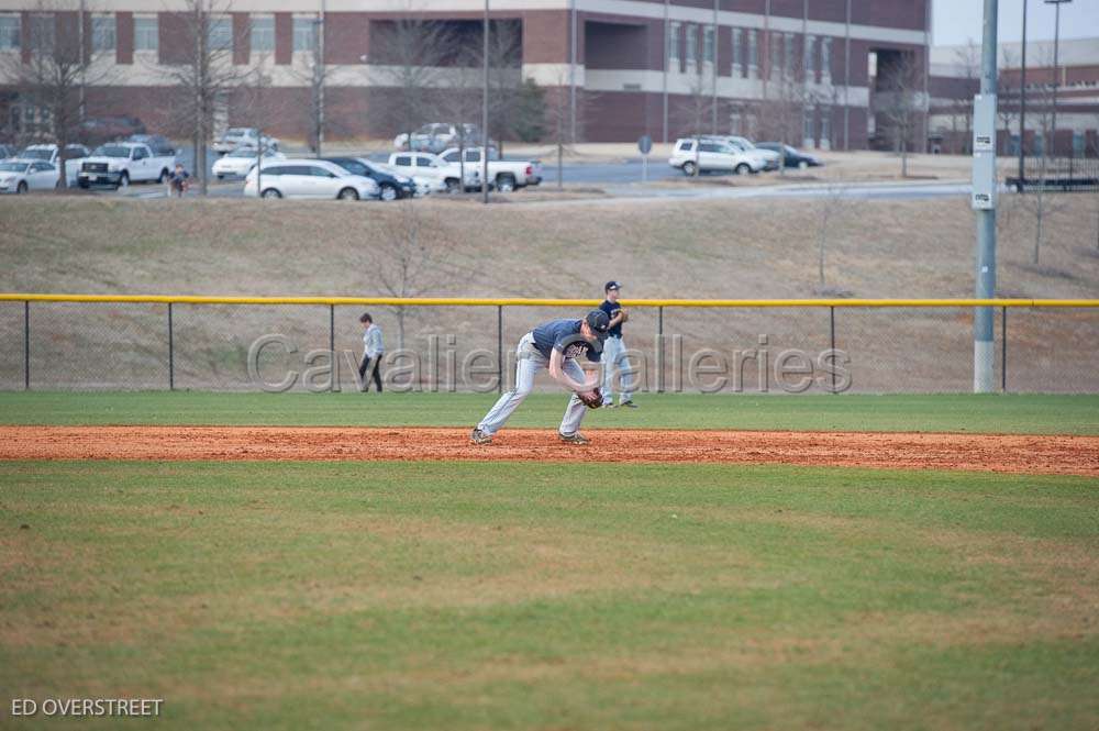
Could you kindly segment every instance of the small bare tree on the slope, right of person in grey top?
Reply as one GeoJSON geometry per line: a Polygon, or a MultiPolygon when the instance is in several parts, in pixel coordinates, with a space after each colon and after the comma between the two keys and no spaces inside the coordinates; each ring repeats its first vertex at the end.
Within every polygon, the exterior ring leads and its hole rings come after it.
{"type": "MultiPolygon", "coordinates": [[[[442,241],[437,222],[420,212],[420,207],[403,200],[396,218],[382,224],[385,239],[369,252],[370,269],[389,297],[419,297],[436,284],[440,270],[435,246],[442,241]]],[[[397,347],[404,347],[408,308],[392,308],[397,318],[397,347]]]]}

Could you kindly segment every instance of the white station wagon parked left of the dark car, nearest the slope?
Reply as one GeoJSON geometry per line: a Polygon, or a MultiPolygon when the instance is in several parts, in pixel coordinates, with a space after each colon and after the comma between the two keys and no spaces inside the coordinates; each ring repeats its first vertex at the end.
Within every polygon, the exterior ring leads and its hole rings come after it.
{"type": "Polygon", "coordinates": [[[308,157],[264,160],[244,179],[244,195],[262,198],[377,198],[373,178],[352,175],[334,163],[308,157]],[[263,186],[262,188],[259,186],[263,186]]]}

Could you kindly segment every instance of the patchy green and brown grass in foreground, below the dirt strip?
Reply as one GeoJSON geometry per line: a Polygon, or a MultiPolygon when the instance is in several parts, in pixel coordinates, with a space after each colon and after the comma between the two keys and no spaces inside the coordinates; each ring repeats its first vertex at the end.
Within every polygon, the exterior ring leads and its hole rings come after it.
{"type": "Polygon", "coordinates": [[[1073,477],[0,463],[0,688],[178,729],[1094,731],[1097,516],[1073,477]]]}

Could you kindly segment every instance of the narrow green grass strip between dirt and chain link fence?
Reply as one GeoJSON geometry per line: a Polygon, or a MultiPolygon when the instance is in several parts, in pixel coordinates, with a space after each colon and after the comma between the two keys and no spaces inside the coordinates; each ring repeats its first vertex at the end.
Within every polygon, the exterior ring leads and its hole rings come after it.
{"type": "MultiPolygon", "coordinates": [[[[4,424],[469,427],[495,394],[3,392],[4,424]]],[[[1099,395],[706,396],[646,394],[593,411],[591,428],[1099,434],[1099,395]]],[[[534,394],[509,422],[554,427],[563,394],[534,394]]]]}

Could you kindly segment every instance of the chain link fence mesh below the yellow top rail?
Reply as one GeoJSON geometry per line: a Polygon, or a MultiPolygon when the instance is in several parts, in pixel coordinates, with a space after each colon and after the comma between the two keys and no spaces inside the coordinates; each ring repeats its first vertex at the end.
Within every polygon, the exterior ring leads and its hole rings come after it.
{"type": "MultiPolygon", "coordinates": [[[[369,311],[387,389],[489,392],[512,383],[523,334],[589,307],[0,301],[0,389],[353,390],[369,311]]],[[[970,306],[628,310],[639,391],[973,390],[970,306]]],[[[1099,392],[1099,301],[995,311],[1002,390],[1099,392]]]]}

